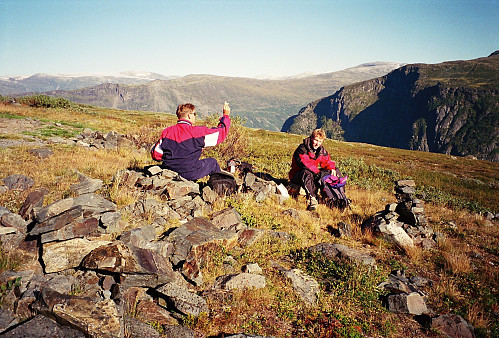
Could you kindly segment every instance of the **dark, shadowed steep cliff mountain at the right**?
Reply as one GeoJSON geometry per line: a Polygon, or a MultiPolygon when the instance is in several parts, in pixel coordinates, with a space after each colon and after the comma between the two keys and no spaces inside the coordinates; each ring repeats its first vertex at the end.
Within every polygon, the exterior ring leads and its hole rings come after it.
{"type": "Polygon", "coordinates": [[[283,131],[498,161],[499,55],[406,65],[345,86],[291,117],[283,131]]]}

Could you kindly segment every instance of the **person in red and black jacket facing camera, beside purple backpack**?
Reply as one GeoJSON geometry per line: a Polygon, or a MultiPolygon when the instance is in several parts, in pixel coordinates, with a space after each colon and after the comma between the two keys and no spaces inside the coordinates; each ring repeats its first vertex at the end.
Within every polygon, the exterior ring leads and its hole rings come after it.
{"type": "Polygon", "coordinates": [[[305,189],[309,210],[316,209],[318,205],[317,190],[321,169],[336,175],[336,164],[322,146],[325,138],[324,130],[315,129],[293,153],[289,180],[305,189]]]}

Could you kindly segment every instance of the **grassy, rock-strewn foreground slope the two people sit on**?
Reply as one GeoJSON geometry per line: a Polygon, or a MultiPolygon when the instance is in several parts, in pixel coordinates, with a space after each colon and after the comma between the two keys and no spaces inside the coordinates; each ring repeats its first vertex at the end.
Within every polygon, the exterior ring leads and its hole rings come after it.
{"type": "Polygon", "coordinates": [[[234,121],[225,196],[152,162],[174,121],[0,104],[1,337],[499,336],[498,163],[326,140],[352,203],[308,211],[302,136],[234,121]]]}

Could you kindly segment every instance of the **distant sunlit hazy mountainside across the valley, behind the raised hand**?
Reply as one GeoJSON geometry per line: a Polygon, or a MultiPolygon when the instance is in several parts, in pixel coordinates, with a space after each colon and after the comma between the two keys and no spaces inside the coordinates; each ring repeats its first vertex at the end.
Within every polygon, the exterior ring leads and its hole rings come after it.
{"type": "Polygon", "coordinates": [[[385,75],[399,66],[398,63],[376,62],[284,80],[188,75],[142,85],[103,83],[44,94],[101,107],[169,113],[174,113],[181,102],[192,102],[201,115],[218,112],[220,103],[229,101],[234,115],[246,119],[248,127],[278,131],[284,121],[307,102],[330,95],[344,85],[385,75]]]}

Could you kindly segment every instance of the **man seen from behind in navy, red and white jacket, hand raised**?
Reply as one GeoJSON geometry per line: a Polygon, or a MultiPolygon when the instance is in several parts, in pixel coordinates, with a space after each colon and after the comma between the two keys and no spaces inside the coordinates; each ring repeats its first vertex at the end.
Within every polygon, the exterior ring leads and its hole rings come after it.
{"type": "Polygon", "coordinates": [[[177,124],[161,133],[161,140],[153,149],[153,157],[161,156],[162,167],[173,170],[187,180],[197,180],[221,171],[216,159],[200,160],[205,147],[216,146],[225,140],[230,128],[230,107],[224,104],[218,126],[194,126],[196,107],[184,103],[177,107],[177,124]]]}

